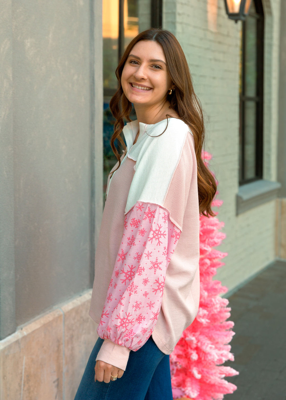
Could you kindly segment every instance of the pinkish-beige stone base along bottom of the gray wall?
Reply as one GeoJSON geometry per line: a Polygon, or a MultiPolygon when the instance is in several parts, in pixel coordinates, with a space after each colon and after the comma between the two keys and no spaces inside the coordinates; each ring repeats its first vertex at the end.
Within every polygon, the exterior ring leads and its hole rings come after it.
{"type": "Polygon", "coordinates": [[[57,304],[0,340],[0,400],[75,398],[98,338],[91,293],[57,304]]]}

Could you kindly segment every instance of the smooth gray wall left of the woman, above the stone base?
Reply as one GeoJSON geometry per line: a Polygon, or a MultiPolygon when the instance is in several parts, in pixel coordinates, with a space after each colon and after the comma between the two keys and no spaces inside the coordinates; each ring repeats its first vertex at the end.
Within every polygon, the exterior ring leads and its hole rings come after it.
{"type": "Polygon", "coordinates": [[[101,2],[0,9],[0,338],[90,288],[102,196],[101,2]]]}

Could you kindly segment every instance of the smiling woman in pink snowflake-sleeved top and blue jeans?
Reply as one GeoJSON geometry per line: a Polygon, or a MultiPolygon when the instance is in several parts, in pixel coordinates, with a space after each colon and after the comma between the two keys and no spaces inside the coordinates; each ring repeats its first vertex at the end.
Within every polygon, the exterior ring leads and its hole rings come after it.
{"type": "Polygon", "coordinates": [[[171,400],[169,354],[197,314],[199,213],[214,215],[216,182],[201,159],[203,115],[175,36],[141,32],[116,76],[118,162],[107,182],[89,310],[99,338],[75,400],[171,400]],[[131,103],[137,120],[124,126],[131,103]]]}

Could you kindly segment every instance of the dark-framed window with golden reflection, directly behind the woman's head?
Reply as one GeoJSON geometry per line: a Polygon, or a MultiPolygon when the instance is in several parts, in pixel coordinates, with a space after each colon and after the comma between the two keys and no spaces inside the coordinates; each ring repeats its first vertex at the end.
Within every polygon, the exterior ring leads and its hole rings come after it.
{"type": "Polygon", "coordinates": [[[103,0],[104,195],[108,174],[117,162],[110,146],[114,118],[109,109],[109,102],[117,89],[115,69],[129,42],[151,26],[162,26],[162,0],[103,0]]]}

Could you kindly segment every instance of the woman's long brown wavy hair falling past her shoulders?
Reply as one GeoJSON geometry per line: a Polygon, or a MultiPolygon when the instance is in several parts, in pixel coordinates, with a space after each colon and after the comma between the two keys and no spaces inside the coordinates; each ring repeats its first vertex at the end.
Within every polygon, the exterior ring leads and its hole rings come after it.
{"type": "MultiPolygon", "coordinates": [[[[157,42],[162,48],[166,59],[167,71],[175,85],[175,91],[169,95],[167,100],[171,103],[171,108],[177,112],[179,118],[183,120],[191,129],[195,142],[195,155],[197,158],[197,186],[199,195],[199,212],[205,216],[215,216],[216,214],[211,210],[211,202],[216,194],[217,184],[216,180],[204,164],[201,158],[201,151],[203,148],[203,141],[205,138],[205,128],[203,123],[203,111],[201,102],[195,95],[193,89],[193,82],[189,71],[189,66],[185,58],[185,54],[175,36],[168,30],[150,28],[144,32],[139,33],[127,46],[119,64],[116,68],[115,74],[119,82],[119,87],[110,101],[110,109],[113,116],[116,118],[114,124],[114,133],[111,137],[111,148],[121,163],[121,156],[115,146],[117,139],[123,147],[124,154],[126,154],[126,146],[121,137],[121,132],[124,127],[124,118],[131,121],[131,102],[123,93],[121,86],[121,75],[124,64],[129,56],[133,46],[140,40],[153,40],[157,42]]],[[[119,166],[117,168],[119,168],[119,166]]]]}

